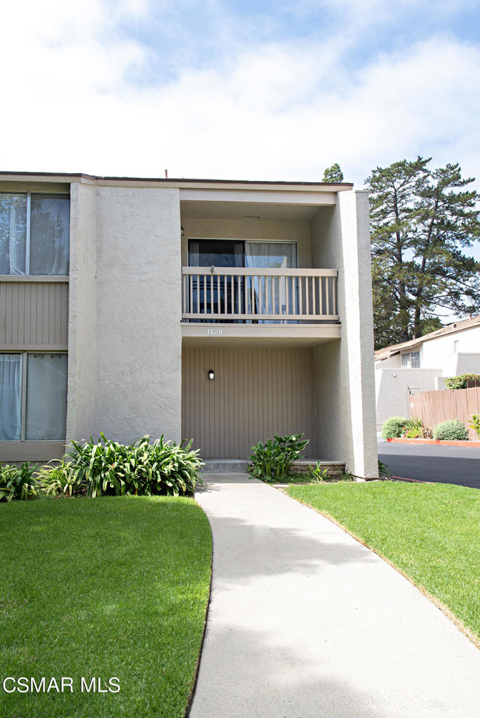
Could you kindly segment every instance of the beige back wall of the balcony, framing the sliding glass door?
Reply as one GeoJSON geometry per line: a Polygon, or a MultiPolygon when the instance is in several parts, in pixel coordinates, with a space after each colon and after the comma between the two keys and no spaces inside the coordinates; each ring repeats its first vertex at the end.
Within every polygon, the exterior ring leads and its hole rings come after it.
{"type": "Polygon", "coordinates": [[[182,264],[188,266],[188,239],[244,239],[297,242],[298,266],[312,266],[308,220],[202,220],[182,219],[182,264]]]}

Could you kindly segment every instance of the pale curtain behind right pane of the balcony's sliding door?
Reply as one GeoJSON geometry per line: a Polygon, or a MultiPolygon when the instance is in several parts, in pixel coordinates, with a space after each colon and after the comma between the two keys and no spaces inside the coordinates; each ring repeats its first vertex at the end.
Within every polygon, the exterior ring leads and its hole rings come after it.
{"type": "MultiPolygon", "coordinates": [[[[297,245],[289,242],[246,242],[245,266],[252,269],[291,269],[297,266],[297,245]]],[[[272,314],[286,314],[292,312],[292,297],[295,290],[293,280],[289,280],[289,298],[287,307],[286,282],[283,277],[266,277],[254,279],[255,311],[257,314],[271,312],[272,314]],[[273,285],[275,291],[273,292],[273,285]],[[273,301],[274,299],[274,301],[273,301]]],[[[249,309],[251,310],[251,292],[248,292],[249,309]]],[[[259,324],[277,323],[259,320],[259,324]]]]}

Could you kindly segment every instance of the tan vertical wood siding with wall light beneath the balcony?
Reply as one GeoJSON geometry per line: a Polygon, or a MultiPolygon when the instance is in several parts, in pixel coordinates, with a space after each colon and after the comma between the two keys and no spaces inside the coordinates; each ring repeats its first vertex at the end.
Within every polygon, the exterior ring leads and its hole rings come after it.
{"type": "Polygon", "coordinates": [[[182,363],[183,437],[203,458],[245,459],[252,444],[300,432],[311,454],[312,349],[185,347],[182,363]]]}

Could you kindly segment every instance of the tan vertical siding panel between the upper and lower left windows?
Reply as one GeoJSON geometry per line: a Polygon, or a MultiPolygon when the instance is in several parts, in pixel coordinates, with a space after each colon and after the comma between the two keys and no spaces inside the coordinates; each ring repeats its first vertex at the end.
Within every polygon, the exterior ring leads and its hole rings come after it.
{"type": "Polygon", "coordinates": [[[0,281],[0,349],[68,347],[68,282],[0,281]]]}

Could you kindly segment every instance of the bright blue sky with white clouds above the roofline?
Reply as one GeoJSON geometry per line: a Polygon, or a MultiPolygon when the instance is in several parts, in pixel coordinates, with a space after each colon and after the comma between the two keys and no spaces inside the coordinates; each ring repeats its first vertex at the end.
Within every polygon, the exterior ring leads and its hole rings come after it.
{"type": "MultiPolygon", "coordinates": [[[[2,11],[2,169],[480,177],[480,4],[27,0],[2,11]]],[[[480,182],[476,183],[480,188],[480,182]]]]}

